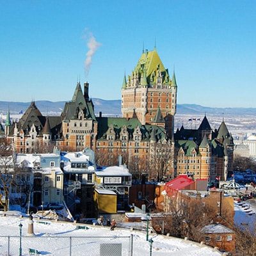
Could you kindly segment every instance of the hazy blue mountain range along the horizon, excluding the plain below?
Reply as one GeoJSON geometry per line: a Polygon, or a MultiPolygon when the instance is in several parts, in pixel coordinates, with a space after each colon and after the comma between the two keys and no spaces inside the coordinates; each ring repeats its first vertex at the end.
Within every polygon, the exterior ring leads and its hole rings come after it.
{"type": "MultiPolygon", "coordinates": [[[[121,100],[92,99],[95,115],[102,112],[104,116],[121,116],[121,100]]],[[[49,100],[37,100],[36,106],[44,115],[59,115],[66,101],[51,102],[49,100]]],[[[6,115],[8,107],[10,113],[24,112],[31,102],[7,102],[0,101],[0,113],[6,115]]],[[[177,104],[177,115],[255,115],[256,108],[209,108],[197,104],[177,104]]]]}

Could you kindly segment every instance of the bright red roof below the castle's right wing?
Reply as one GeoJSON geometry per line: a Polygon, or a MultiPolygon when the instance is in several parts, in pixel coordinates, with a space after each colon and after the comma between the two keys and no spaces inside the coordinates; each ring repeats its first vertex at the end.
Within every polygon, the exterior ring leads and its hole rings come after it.
{"type": "Polygon", "coordinates": [[[195,181],[188,177],[186,174],[180,174],[179,177],[170,180],[169,182],[166,182],[164,189],[167,193],[167,195],[173,194],[173,191],[175,190],[184,190],[189,189],[189,186],[193,184],[195,181]]]}

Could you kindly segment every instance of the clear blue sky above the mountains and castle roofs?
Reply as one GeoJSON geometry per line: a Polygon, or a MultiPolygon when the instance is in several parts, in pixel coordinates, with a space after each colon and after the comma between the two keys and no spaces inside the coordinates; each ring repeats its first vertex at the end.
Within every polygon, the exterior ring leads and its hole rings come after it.
{"type": "Polygon", "coordinates": [[[178,104],[256,108],[255,13],[246,0],[0,0],[0,100],[71,100],[77,80],[121,99],[124,73],[156,42],[178,104]]]}

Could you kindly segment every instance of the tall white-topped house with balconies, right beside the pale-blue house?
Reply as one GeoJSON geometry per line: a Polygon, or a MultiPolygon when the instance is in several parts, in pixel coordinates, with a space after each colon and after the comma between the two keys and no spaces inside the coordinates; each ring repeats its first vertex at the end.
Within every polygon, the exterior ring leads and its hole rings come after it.
{"type": "Polygon", "coordinates": [[[86,218],[94,216],[95,169],[94,153],[90,148],[84,148],[79,152],[61,152],[64,198],[74,216],[83,215],[86,218]]]}

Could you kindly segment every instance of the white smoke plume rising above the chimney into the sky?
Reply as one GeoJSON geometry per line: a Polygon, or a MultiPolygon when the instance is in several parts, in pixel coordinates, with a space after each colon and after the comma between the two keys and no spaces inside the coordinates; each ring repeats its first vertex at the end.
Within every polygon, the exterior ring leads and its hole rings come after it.
{"type": "Polygon", "coordinates": [[[96,41],[95,37],[93,36],[93,34],[91,32],[86,33],[84,38],[86,38],[87,47],[89,48],[89,51],[86,52],[86,59],[84,61],[85,76],[88,76],[88,73],[90,71],[90,67],[92,64],[92,57],[95,54],[95,52],[97,51],[97,49],[101,46],[101,44],[96,41]]]}

